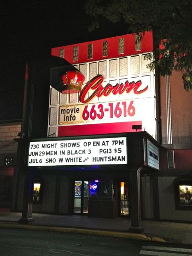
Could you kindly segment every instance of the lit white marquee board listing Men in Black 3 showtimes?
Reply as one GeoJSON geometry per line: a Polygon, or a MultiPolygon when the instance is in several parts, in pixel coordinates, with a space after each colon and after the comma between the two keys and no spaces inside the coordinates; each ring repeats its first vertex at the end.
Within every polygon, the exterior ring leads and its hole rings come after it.
{"type": "Polygon", "coordinates": [[[28,166],[127,164],[126,137],[30,142],[28,166]]]}

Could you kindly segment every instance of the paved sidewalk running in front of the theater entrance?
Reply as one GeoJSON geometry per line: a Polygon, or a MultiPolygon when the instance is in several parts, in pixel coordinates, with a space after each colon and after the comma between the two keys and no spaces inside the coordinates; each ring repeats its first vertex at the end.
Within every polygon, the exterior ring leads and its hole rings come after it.
{"type": "Polygon", "coordinates": [[[84,215],[49,215],[33,213],[34,221],[19,224],[21,213],[0,212],[0,227],[52,230],[141,239],[147,241],[192,244],[192,224],[142,220],[144,232],[129,232],[130,219],[88,218],[84,215]]]}

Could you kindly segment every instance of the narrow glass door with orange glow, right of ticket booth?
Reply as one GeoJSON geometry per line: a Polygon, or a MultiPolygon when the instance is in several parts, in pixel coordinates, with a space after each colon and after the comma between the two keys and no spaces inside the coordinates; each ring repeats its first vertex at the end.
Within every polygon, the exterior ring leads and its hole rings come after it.
{"type": "Polygon", "coordinates": [[[129,190],[128,182],[122,181],[120,184],[120,215],[129,216],[129,190]]]}

